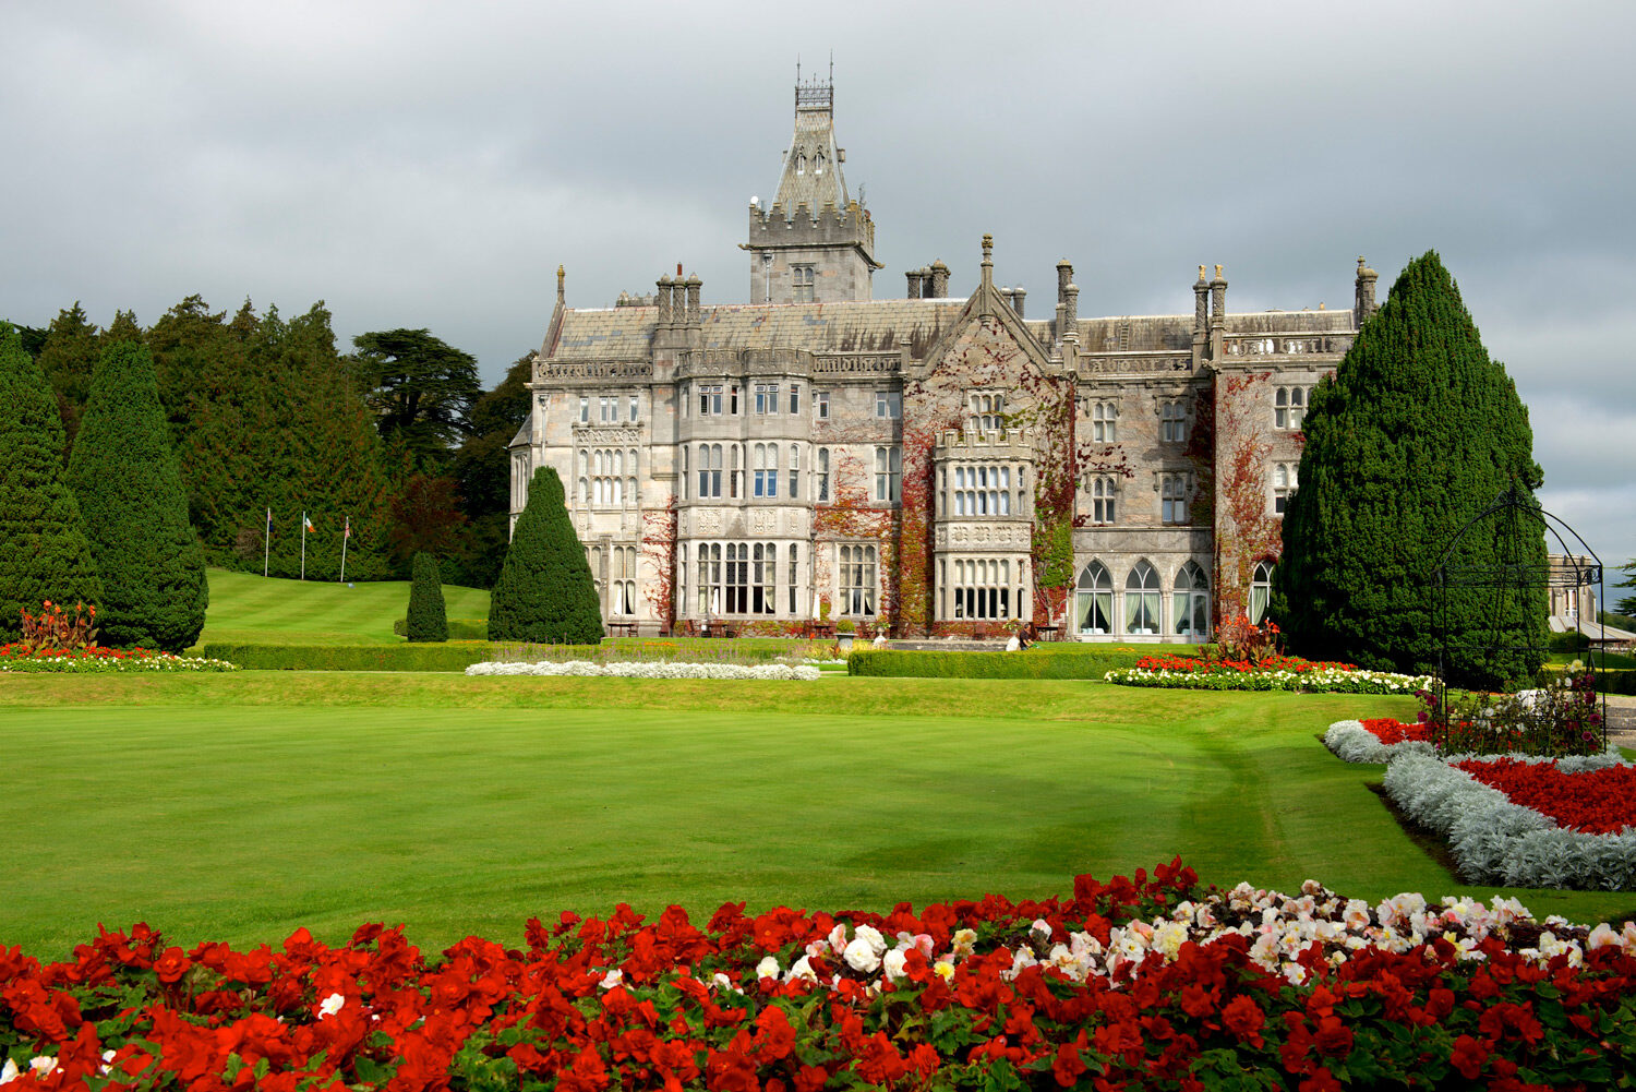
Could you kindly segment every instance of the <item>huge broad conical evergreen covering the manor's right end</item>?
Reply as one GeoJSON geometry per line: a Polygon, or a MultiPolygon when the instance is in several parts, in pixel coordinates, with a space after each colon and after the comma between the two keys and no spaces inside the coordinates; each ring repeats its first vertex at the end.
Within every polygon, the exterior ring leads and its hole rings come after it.
{"type": "MultiPolygon", "coordinates": [[[[1499,686],[1538,670],[1543,586],[1440,599],[1433,581],[1445,550],[1503,490],[1536,509],[1531,490],[1543,481],[1517,386],[1489,359],[1435,252],[1404,268],[1333,381],[1314,391],[1306,440],[1274,573],[1296,652],[1420,673],[1438,668],[1446,640],[1456,684],[1499,686]]],[[[1543,578],[1541,526],[1479,522],[1451,563],[1510,563],[1543,578]]]]}

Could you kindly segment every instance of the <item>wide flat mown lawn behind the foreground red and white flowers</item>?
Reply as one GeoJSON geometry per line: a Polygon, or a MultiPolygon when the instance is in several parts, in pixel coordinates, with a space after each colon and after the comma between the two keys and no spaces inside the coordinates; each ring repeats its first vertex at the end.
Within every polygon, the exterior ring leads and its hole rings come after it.
{"type": "Polygon", "coordinates": [[[622,900],[1063,894],[1176,855],[1222,884],[1469,891],[1371,792],[1381,768],[1317,740],[1402,697],[280,671],[0,678],[0,943],[43,956],[97,922],[193,945],[384,920],[440,948],[622,900]]]}

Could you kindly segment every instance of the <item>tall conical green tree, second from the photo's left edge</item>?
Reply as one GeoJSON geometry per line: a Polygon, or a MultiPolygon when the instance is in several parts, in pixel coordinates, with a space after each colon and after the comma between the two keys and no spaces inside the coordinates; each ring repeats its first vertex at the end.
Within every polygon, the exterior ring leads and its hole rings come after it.
{"type": "Polygon", "coordinates": [[[97,362],[69,486],[103,578],[103,640],[165,652],[193,645],[209,602],[204,553],[188,522],[154,359],[137,341],[111,342],[97,362]]]}

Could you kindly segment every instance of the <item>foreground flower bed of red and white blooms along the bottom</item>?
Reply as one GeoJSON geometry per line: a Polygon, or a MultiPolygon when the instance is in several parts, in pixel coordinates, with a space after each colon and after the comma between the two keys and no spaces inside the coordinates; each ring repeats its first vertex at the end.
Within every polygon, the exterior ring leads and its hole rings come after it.
{"type": "Polygon", "coordinates": [[[622,905],[438,961],[380,925],[247,953],[137,925],[70,963],[0,950],[0,1081],[816,1092],[1237,1089],[1255,1072],[1507,1089],[1610,1084],[1631,1049],[1636,927],[1193,882],[1171,863],[1081,876],[1067,900],[728,904],[703,928],[622,905]]]}

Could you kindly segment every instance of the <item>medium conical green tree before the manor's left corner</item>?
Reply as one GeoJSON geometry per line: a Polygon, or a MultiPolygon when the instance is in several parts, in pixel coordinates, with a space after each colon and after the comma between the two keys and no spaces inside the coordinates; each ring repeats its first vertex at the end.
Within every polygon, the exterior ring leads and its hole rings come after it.
{"type": "Polygon", "coordinates": [[[540,467],[528,504],[517,517],[510,548],[489,598],[489,640],[594,645],[602,640],[602,607],[591,565],[574,534],[563,480],[540,467]]]}

